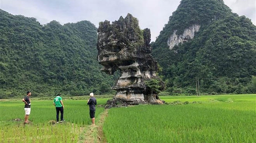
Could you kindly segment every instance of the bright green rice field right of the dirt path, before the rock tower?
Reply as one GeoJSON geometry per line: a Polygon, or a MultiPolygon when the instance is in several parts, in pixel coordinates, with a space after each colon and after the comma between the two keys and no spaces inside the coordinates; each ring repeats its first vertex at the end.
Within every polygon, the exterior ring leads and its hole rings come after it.
{"type": "Polygon", "coordinates": [[[191,104],[111,109],[108,142],[256,142],[255,95],[160,98],[191,104]]]}

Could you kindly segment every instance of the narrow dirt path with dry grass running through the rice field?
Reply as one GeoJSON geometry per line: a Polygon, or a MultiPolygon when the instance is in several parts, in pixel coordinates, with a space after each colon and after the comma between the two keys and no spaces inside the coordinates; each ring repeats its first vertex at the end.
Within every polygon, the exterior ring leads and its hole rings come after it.
{"type": "MultiPolygon", "coordinates": [[[[89,129],[84,133],[84,143],[91,143],[91,142],[97,142],[97,143],[106,143],[106,139],[103,134],[103,124],[105,117],[108,116],[108,109],[105,109],[98,119],[98,122],[96,122],[96,125],[89,125],[89,129]]],[[[97,120],[97,119],[95,119],[97,120]]]]}

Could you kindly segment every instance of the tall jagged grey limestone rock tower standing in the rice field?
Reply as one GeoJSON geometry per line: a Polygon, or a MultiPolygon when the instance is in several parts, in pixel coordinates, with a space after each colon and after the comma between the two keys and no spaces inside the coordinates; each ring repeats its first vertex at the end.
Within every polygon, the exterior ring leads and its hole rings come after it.
{"type": "MultiPolygon", "coordinates": [[[[98,61],[105,73],[119,70],[121,77],[112,87],[113,102],[125,104],[162,104],[158,93],[164,83],[157,77],[157,62],[150,54],[150,29],[140,30],[137,18],[127,14],[118,21],[105,20],[98,28],[98,61]]],[[[113,104],[112,102],[112,104],[113,104]]],[[[114,103],[114,104],[115,104],[114,103]]]]}

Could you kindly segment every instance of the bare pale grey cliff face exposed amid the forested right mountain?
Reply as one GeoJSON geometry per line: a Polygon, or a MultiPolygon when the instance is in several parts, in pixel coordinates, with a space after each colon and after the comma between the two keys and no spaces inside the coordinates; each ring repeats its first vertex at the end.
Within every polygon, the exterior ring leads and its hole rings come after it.
{"type": "Polygon", "coordinates": [[[189,39],[193,39],[195,36],[195,32],[198,32],[200,28],[200,25],[193,24],[189,28],[186,28],[184,30],[184,33],[182,35],[176,35],[176,31],[172,35],[170,35],[167,44],[169,45],[169,49],[172,49],[175,45],[178,45],[179,43],[187,42],[189,39]]]}

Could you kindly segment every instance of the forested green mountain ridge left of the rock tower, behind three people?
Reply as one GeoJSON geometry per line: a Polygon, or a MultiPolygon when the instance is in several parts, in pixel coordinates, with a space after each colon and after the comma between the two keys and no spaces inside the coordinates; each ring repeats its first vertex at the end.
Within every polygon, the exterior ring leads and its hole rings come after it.
{"type": "Polygon", "coordinates": [[[88,95],[110,91],[113,76],[100,72],[97,28],[90,21],[40,25],[0,10],[0,98],[88,95]]]}

